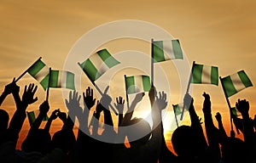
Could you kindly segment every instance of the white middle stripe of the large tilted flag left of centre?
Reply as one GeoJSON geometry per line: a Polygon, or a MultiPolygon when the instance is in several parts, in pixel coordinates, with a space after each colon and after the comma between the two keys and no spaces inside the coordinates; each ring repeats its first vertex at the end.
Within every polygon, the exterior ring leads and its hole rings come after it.
{"type": "Polygon", "coordinates": [[[98,70],[98,73],[102,75],[104,72],[106,72],[109,68],[108,65],[106,65],[102,58],[99,56],[98,53],[94,53],[90,56],[90,62],[96,67],[96,70],[98,70]]]}

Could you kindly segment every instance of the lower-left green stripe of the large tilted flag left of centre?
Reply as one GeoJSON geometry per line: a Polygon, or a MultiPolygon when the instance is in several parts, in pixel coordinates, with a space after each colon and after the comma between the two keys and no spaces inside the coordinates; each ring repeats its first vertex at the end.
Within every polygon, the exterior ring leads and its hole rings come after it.
{"type": "Polygon", "coordinates": [[[90,78],[91,82],[95,82],[98,77],[98,70],[96,67],[90,62],[90,59],[85,60],[82,65],[84,73],[90,78]]]}

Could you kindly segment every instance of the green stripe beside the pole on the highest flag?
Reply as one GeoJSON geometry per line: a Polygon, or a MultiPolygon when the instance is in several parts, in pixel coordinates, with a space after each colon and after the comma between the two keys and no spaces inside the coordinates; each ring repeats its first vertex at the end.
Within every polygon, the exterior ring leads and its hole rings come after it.
{"type": "Polygon", "coordinates": [[[165,54],[163,50],[163,42],[158,41],[158,42],[152,42],[152,57],[154,59],[154,62],[161,62],[165,61],[165,54]]]}

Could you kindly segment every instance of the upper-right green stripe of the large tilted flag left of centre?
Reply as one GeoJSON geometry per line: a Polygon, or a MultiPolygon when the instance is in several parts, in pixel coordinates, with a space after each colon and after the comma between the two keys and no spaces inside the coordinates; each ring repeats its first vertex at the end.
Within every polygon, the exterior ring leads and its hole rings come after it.
{"type": "Polygon", "coordinates": [[[97,53],[99,54],[99,56],[101,57],[103,62],[106,65],[108,65],[109,69],[111,67],[113,67],[114,65],[118,65],[120,63],[118,60],[114,59],[110,53],[108,53],[107,49],[102,49],[102,50],[98,51],[97,53]]]}

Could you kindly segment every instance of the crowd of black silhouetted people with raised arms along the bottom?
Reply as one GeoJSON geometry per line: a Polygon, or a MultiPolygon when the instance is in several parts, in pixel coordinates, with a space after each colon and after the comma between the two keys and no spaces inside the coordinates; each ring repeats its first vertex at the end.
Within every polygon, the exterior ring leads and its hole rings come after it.
{"type": "Polygon", "coordinates": [[[119,111],[117,127],[113,125],[110,111],[112,98],[106,91],[100,99],[94,98],[91,87],[87,87],[81,95],[76,91],[70,91],[69,98],[65,100],[67,112],[54,110],[44,128],[41,128],[40,125],[49,112],[49,103],[45,100],[38,108],[39,115],[21,143],[21,149],[16,149],[20,130],[27,117],[26,108],[38,100],[35,95],[37,89],[38,86],[33,83],[26,85],[20,96],[20,87],[15,83],[15,79],[3,88],[0,104],[12,94],[16,110],[11,117],[8,111],[0,110],[1,163],[256,162],[256,119],[250,117],[250,105],[246,99],[238,99],[236,102],[236,110],[241,112],[242,118],[232,115],[243,136],[241,139],[236,137],[233,130],[230,134],[226,133],[220,113],[212,115],[208,93],[202,93],[204,121],[201,121],[202,118],[195,111],[194,99],[189,93],[185,94],[183,104],[189,110],[191,124],[178,126],[172,133],[171,142],[175,151],[173,153],[167,147],[161,116],[161,111],[167,106],[166,93],[157,92],[154,86],[148,93],[137,93],[125,113],[124,98],[116,98],[114,106],[119,111]],[[145,95],[150,99],[152,126],[142,117],[133,116],[137,104],[145,95]],[[84,101],[84,106],[80,106],[80,100],[84,101]],[[93,107],[95,110],[91,118],[95,121],[90,124],[90,111],[93,107]],[[98,132],[101,116],[104,129],[98,132]],[[56,118],[60,118],[63,125],[51,135],[50,126],[56,118]],[[73,132],[75,119],[79,121],[77,133],[73,132]],[[218,122],[218,126],[214,126],[213,119],[218,122]]]}

